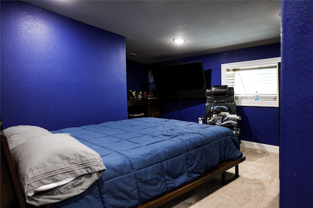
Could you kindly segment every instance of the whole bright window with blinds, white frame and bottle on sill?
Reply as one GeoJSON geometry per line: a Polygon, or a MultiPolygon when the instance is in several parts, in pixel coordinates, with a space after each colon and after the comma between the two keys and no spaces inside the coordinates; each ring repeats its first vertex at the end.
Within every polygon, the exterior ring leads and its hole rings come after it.
{"type": "Polygon", "coordinates": [[[234,87],[238,106],[278,107],[279,62],[281,57],[222,64],[222,85],[234,87]]]}

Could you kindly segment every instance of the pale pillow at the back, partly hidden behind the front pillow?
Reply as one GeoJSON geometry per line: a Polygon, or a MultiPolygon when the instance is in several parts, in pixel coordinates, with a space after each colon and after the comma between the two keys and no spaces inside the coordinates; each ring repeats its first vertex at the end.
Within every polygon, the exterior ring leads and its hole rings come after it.
{"type": "Polygon", "coordinates": [[[32,138],[52,134],[44,128],[29,125],[12,126],[4,129],[3,132],[7,138],[11,151],[19,144],[22,144],[32,138]]]}

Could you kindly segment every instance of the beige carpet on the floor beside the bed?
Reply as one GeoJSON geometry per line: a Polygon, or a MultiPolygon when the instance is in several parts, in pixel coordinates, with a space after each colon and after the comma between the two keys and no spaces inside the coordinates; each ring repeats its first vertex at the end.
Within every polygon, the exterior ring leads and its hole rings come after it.
{"type": "Polygon", "coordinates": [[[278,208],[279,154],[246,147],[241,151],[246,161],[239,165],[239,178],[222,186],[218,176],[160,208],[278,208]]]}

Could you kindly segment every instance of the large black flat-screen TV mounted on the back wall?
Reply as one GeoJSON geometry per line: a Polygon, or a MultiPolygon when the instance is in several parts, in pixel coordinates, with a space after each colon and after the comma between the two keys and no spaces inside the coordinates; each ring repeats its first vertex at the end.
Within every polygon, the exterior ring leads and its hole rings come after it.
{"type": "Polygon", "coordinates": [[[202,61],[155,67],[152,74],[160,98],[205,97],[202,61]]]}

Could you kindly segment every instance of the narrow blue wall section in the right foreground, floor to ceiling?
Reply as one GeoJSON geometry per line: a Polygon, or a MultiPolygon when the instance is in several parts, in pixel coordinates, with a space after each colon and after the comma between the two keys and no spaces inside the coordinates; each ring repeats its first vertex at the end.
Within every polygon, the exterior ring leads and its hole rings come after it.
{"type": "Polygon", "coordinates": [[[313,1],[282,1],[281,208],[311,208],[313,196],[313,1]]]}

